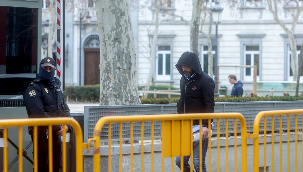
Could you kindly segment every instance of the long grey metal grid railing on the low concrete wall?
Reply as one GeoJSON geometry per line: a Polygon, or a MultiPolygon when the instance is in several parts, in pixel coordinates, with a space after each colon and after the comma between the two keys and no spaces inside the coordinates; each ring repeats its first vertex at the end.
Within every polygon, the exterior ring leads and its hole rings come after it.
{"type": "MultiPolygon", "coordinates": [[[[247,132],[253,131],[255,116],[265,110],[286,110],[302,109],[303,101],[277,101],[277,102],[223,102],[215,103],[215,112],[241,113],[246,120],[247,132]]],[[[121,105],[121,106],[85,106],[84,108],[84,140],[93,137],[94,127],[97,121],[103,116],[123,116],[123,115],[155,115],[155,114],[176,114],[176,104],[151,104],[151,105],[121,105]]],[[[282,118],[282,128],[287,130],[287,116],[282,118]]],[[[279,130],[280,118],[275,118],[275,129],[279,130]]],[[[130,123],[123,123],[122,140],[130,140],[130,123]]],[[[214,120],[213,134],[217,134],[218,123],[214,120]]],[[[271,117],[267,117],[267,127],[271,128],[271,117]]],[[[225,125],[225,119],[220,120],[220,133],[224,134],[228,128],[229,133],[234,133],[234,120],[228,120],[228,126],[225,125]],[[224,133],[223,133],[224,132],[224,133]]],[[[260,131],[264,127],[264,121],[261,120],[260,131]]],[[[290,130],[295,129],[295,116],[290,117],[290,130]]],[[[302,129],[302,116],[298,116],[298,129],[302,129]]],[[[241,133],[240,122],[237,121],[237,132],[241,133]]],[[[105,124],[101,130],[101,142],[108,142],[108,124],[105,124]]],[[[144,139],[151,137],[151,122],[144,122],[144,139]]],[[[141,139],[141,123],[134,123],[134,140],[141,139]]],[[[154,138],[161,138],[161,123],[154,123],[154,138]]],[[[112,141],[119,141],[119,123],[112,124],[112,141]]]]}

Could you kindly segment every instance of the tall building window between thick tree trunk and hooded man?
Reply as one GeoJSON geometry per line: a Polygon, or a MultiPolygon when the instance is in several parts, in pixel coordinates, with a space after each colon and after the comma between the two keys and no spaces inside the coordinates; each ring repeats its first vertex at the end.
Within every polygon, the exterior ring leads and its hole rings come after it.
{"type": "Polygon", "coordinates": [[[171,47],[158,46],[156,54],[156,80],[171,80],[171,47]]]}

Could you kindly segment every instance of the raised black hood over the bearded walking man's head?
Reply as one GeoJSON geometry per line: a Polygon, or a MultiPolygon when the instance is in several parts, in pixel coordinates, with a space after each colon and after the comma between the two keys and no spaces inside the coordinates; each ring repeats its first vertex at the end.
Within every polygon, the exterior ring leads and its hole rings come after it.
{"type": "Polygon", "coordinates": [[[176,64],[176,68],[178,69],[179,73],[184,76],[182,66],[191,68],[194,73],[197,73],[198,76],[201,74],[202,68],[199,57],[193,52],[184,52],[176,64]]]}

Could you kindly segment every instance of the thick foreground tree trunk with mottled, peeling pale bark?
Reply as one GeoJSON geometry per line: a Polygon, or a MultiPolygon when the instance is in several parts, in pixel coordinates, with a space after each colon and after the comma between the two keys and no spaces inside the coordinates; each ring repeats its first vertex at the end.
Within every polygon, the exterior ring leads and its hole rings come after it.
{"type": "Polygon", "coordinates": [[[96,0],[100,35],[99,105],[141,104],[129,2],[96,0]]]}

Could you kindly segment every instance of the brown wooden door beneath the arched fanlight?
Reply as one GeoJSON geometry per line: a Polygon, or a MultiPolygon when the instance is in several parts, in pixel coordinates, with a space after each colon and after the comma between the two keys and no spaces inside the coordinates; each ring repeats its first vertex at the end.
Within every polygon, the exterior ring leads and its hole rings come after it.
{"type": "Polygon", "coordinates": [[[84,84],[100,84],[100,49],[84,49],[85,53],[85,73],[84,84]]]}

